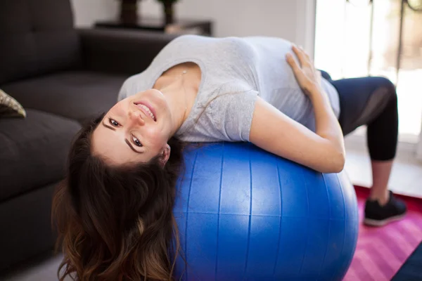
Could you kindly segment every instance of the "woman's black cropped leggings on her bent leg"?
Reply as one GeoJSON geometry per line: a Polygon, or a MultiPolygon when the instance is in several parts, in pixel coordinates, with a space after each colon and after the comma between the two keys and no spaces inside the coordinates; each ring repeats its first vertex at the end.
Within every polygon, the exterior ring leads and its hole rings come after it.
{"type": "Polygon", "coordinates": [[[383,77],[362,77],[333,81],[326,72],[322,76],[333,84],[340,98],[338,122],[347,135],[366,125],[369,155],[378,161],[391,160],[397,149],[399,117],[397,94],[392,82],[383,77]]]}

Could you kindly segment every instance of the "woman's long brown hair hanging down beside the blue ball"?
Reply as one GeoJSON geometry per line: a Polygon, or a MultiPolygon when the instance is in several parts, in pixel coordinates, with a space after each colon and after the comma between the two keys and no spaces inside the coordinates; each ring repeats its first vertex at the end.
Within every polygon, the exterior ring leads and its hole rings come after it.
{"type": "Polygon", "coordinates": [[[68,175],[53,197],[52,223],[64,259],[60,281],[172,280],[179,254],[172,214],[183,144],[169,141],[170,159],[109,166],[91,154],[103,115],[86,124],[68,157],[68,175]]]}

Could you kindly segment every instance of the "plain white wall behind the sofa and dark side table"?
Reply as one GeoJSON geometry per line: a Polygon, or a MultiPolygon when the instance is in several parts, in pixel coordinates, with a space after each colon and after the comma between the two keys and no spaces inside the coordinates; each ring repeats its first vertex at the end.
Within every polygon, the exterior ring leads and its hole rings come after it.
{"type": "MultiPolygon", "coordinates": [[[[72,0],[75,25],[87,27],[113,18],[118,0],[72,0]]],[[[207,18],[215,22],[216,37],[266,35],[283,37],[313,53],[315,0],[180,0],[175,13],[181,18],[207,18]]],[[[155,0],[142,0],[141,15],[162,15],[155,0]]]]}

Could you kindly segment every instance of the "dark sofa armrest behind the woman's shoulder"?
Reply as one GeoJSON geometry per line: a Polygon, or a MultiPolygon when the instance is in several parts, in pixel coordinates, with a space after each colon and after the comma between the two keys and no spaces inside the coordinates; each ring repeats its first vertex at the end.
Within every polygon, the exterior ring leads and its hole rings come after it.
{"type": "Polygon", "coordinates": [[[84,68],[98,72],[136,74],[177,35],[131,30],[78,29],[84,68]]]}

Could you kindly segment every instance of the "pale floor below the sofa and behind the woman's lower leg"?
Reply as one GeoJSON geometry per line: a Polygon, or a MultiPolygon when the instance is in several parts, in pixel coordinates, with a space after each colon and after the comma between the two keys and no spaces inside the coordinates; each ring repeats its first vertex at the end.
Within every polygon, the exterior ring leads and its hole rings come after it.
{"type": "MultiPolygon", "coordinates": [[[[362,186],[371,186],[371,166],[364,150],[354,149],[354,143],[346,140],[347,160],[345,169],[352,183],[362,186]]],[[[361,146],[362,148],[362,146],[361,146]]],[[[390,179],[390,189],[403,195],[422,197],[422,163],[409,158],[409,155],[400,153],[393,167],[390,179]]],[[[0,276],[4,281],[52,281],[57,280],[57,268],[62,259],[56,257],[42,258],[32,261],[30,265],[19,268],[8,276],[0,276]]],[[[70,278],[65,279],[70,281],[70,278]]]]}

